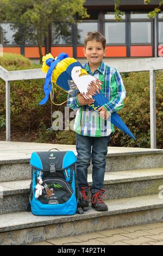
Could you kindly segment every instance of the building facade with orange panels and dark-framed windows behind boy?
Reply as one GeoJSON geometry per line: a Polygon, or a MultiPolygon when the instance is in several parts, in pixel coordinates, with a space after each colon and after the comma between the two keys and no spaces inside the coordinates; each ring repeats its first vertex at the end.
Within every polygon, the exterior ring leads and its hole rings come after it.
{"type": "MultiPolygon", "coordinates": [[[[122,21],[114,18],[114,0],[87,0],[89,19],[79,20],[78,25],[53,22],[49,28],[42,53],[51,52],[57,56],[66,52],[70,57],[83,58],[84,36],[89,31],[105,35],[108,58],[162,57],[163,56],[163,8],[155,19],[147,17],[148,12],[158,7],[160,1],[122,0],[122,21]]],[[[27,58],[39,58],[36,41],[31,39],[17,45],[16,33],[10,23],[1,23],[0,44],[4,52],[21,53],[27,58]]]]}

